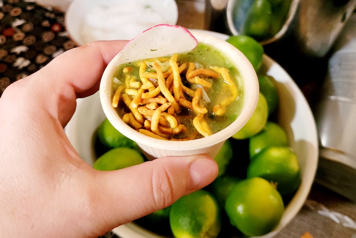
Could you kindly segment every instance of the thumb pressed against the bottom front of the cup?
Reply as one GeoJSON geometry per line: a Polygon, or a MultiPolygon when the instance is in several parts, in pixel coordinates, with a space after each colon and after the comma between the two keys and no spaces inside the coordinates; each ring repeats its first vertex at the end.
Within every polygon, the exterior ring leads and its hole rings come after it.
{"type": "Polygon", "coordinates": [[[162,157],[116,171],[98,171],[101,195],[91,213],[91,228],[103,233],[171,205],[199,190],[218,175],[218,165],[206,155],[162,157]]]}

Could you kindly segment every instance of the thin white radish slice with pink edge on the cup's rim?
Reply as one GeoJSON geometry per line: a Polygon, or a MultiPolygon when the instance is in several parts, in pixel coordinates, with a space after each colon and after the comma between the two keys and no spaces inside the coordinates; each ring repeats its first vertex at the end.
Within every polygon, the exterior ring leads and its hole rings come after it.
{"type": "Polygon", "coordinates": [[[197,47],[197,39],[184,27],[157,25],[127,42],[119,52],[117,66],[137,60],[185,53],[197,47]]]}

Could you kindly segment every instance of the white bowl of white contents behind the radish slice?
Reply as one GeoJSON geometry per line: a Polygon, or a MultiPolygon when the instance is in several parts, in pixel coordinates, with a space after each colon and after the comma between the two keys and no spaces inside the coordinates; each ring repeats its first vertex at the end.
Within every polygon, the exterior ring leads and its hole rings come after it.
{"type": "Polygon", "coordinates": [[[174,0],[74,0],[65,15],[69,36],[78,45],[94,40],[131,40],[152,26],[176,25],[177,20],[178,7],[174,0]],[[126,10],[103,14],[100,7],[106,7],[105,12],[126,10]],[[133,11],[129,14],[131,8],[133,11]],[[138,9],[142,14],[138,14],[138,9]],[[143,19],[130,20],[130,16],[134,19],[143,16],[143,19]],[[90,20],[85,20],[87,17],[90,20]]]}

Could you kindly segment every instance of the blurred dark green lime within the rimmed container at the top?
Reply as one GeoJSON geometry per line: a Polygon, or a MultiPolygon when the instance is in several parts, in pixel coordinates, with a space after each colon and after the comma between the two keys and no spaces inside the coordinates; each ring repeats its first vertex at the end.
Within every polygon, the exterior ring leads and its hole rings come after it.
{"type": "Polygon", "coordinates": [[[244,34],[258,41],[270,37],[271,16],[271,3],[268,0],[255,0],[246,15],[244,34]]]}

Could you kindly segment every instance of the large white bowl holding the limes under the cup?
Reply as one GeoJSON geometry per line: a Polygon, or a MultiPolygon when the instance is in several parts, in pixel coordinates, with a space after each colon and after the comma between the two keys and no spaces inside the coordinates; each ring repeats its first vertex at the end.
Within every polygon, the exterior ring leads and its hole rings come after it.
{"type": "MultiPolygon", "coordinates": [[[[198,31],[198,30],[194,30],[198,31]]],[[[208,32],[225,40],[228,36],[208,32]]],[[[270,238],[281,231],[302,208],[318,165],[318,137],[315,120],[309,104],[292,78],[278,63],[268,56],[263,56],[262,73],[272,76],[279,93],[278,123],[286,131],[289,144],[298,156],[302,182],[293,199],[288,203],[281,222],[263,238],[270,238]]],[[[95,161],[93,133],[105,119],[99,94],[77,100],[77,110],[66,126],[66,134],[83,160],[92,165],[95,161]]],[[[159,238],[156,234],[143,229],[135,223],[127,223],[115,228],[114,233],[122,238],[159,238]]]]}

